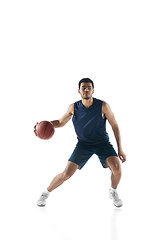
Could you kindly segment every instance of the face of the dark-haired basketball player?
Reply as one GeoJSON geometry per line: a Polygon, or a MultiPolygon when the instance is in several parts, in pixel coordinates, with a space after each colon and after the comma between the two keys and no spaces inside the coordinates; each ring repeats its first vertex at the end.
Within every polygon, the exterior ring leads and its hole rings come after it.
{"type": "Polygon", "coordinates": [[[81,83],[80,89],[78,89],[79,94],[83,99],[89,100],[94,93],[94,89],[92,88],[92,83],[81,83]]]}

